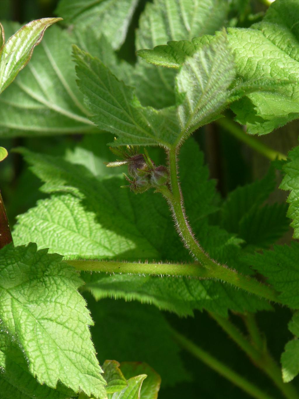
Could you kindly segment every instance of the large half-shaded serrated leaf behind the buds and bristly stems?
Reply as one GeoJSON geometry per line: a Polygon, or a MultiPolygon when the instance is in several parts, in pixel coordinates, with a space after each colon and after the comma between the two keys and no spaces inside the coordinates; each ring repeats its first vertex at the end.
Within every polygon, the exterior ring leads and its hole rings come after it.
{"type": "MultiPolygon", "coordinates": [[[[95,178],[83,166],[74,166],[61,158],[22,152],[33,164],[32,171],[45,182],[41,189],[56,194],[18,217],[14,230],[16,243],[35,237],[39,247],[50,247],[51,251],[67,257],[71,254],[87,259],[91,256],[131,261],[191,261],[173,229],[169,209],[161,196],[151,192],[136,196],[120,189],[123,180],[118,176],[95,178]],[[58,235],[54,233],[57,231],[58,235]]],[[[239,260],[240,239],[219,227],[209,226],[205,220],[217,209],[215,183],[209,180],[203,154],[192,138],[182,147],[181,160],[186,211],[203,248],[213,259],[250,274],[247,265],[244,269],[239,260]],[[195,190],[189,190],[191,184],[195,190]]],[[[86,288],[96,298],[136,299],[181,315],[193,314],[195,308],[208,308],[222,315],[227,315],[228,308],[240,312],[269,308],[254,296],[212,280],[94,273],[86,288]]]]}

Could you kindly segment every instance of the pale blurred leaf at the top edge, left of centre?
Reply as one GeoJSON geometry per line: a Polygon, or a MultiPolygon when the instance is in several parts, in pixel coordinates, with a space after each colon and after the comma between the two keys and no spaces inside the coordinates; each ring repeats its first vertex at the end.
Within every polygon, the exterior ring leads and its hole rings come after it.
{"type": "Polygon", "coordinates": [[[76,30],[97,27],[118,49],[124,42],[138,0],[61,0],[56,14],[76,30]],[[100,23],[99,23],[100,22],[100,23]]]}

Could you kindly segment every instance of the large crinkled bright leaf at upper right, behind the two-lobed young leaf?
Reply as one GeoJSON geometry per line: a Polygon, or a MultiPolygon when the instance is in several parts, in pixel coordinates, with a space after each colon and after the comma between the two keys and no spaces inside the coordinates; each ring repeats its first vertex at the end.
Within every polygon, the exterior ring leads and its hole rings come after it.
{"type": "MultiPolygon", "coordinates": [[[[228,28],[228,43],[243,86],[235,97],[239,101],[230,107],[236,120],[246,124],[251,134],[266,134],[299,115],[298,12],[295,0],[278,0],[269,7],[262,22],[246,29],[228,28]]],[[[212,37],[181,39],[151,43],[151,47],[143,47],[137,54],[155,65],[177,68],[212,37]]]]}

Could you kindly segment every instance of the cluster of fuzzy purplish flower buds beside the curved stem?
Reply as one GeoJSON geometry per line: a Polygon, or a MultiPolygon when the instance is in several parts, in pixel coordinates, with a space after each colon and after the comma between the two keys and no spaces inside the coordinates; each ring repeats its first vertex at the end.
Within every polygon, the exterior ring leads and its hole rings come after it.
{"type": "Polygon", "coordinates": [[[117,160],[116,162],[109,162],[108,167],[128,165],[128,176],[125,175],[126,180],[130,183],[127,186],[135,194],[143,193],[149,188],[158,189],[167,184],[168,171],[165,166],[155,166],[155,163],[149,158],[148,152],[144,149],[145,154],[140,154],[139,148],[134,146],[127,146],[126,150],[120,147],[110,147],[110,150],[122,156],[124,160],[117,160]]]}

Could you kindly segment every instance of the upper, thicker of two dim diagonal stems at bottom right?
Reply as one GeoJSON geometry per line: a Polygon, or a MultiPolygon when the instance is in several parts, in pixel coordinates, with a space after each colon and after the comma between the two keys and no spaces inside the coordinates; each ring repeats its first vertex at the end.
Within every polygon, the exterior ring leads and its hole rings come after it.
{"type": "MultiPolygon", "coordinates": [[[[298,393],[295,388],[290,384],[283,383],[281,377],[281,370],[278,365],[272,359],[271,355],[267,350],[259,350],[253,346],[247,338],[232,324],[228,319],[219,316],[216,313],[210,313],[210,316],[216,320],[216,322],[223,328],[223,330],[232,338],[238,346],[247,354],[251,361],[260,367],[264,373],[271,378],[275,385],[281,390],[283,395],[287,399],[298,399],[298,393]]],[[[252,322],[252,320],[250,320],[252,322]]],[[[256,333],[258,332],[258,327],[253,328],[251,326],[251,331],[254,333],[255,339],[261,343],[261,337],[257,338],[256,333]]],[[[260,334],[259,334],[260,335],[260,334]]]]}

